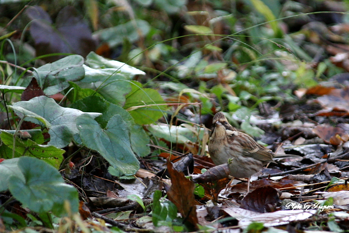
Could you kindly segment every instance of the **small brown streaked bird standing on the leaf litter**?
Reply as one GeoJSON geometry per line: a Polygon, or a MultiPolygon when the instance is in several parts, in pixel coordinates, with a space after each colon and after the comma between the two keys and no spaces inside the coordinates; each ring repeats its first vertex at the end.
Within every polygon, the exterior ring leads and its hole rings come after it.
{"type": "MultiPolygon", "coordinates": [[[[208,143],[208,152],[215,165],[228,163],[230,176],[248,178],[247,192],[250,191],[250,178],[263,166],[274,162],[274,152],[258,144],[253,138],[232,127],[222,112],[213,117],[213,129],[208,143]]],[[[290,158],[299,156],[280,156],[290,158]]],[[[274,162],[275,163],[275,162],[274,162]]]]}

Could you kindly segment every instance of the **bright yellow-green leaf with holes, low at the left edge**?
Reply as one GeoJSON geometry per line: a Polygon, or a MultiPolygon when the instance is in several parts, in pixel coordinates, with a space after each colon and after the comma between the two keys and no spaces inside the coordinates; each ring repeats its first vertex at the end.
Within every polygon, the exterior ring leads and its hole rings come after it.
{"type": "MultiPolygon", "coordinates": [[[[1,141],[7,147],[13,150],[13,134],[2,130],[0,137],[1,141]]],[[[62,163],[63,153],[65,152],[65,150],[56,148],[54,146],[38,145],[30,139],[20,139],[18,137],[15,139],[14,148],[15,152],[21,156],[27,155],[44,160],[46,163],[52,165],[56,169],[58,169],[59,165],[62,163]]],[[[11,155],[12,153],[6,157],[10,158],[9,156],[11,155]]]]}

